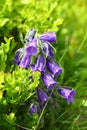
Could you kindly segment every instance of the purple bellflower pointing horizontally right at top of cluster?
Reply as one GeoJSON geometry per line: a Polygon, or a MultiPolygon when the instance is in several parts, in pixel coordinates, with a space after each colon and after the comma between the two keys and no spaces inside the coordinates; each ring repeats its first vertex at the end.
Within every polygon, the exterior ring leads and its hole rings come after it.
{"type": "Polygon", "coordinates": [[[56,42],[56,34],[54,32],[44,33],[39,38],[45,42],[56,42]]]}

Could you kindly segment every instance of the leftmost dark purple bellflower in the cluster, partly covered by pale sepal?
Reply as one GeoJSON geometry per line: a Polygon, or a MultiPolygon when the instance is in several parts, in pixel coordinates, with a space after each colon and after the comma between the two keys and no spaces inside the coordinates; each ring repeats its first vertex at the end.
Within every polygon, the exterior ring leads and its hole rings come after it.
{"type": "Polygon", "coordinates": [[[21,61],[21,58],[23,56],[23,52],[24,52],[24,48],[20,48],[16,51],[16,55],[15,55],[15,58],[14,58],[14,62],[19,65],[20,64],[20,61],[21,61]]]}

